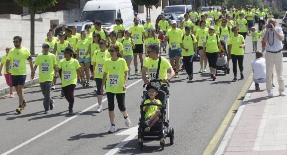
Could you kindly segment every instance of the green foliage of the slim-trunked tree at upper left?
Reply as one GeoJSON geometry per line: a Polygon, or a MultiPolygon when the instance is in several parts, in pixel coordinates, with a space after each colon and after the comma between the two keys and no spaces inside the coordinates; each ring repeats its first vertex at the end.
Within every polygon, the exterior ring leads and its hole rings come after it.
{"type": "Polygon", "coordinates": [[[30,10],[41,11],[57,3],[56,0],[13,0],[19,6],[27,7],[30,10]]]}

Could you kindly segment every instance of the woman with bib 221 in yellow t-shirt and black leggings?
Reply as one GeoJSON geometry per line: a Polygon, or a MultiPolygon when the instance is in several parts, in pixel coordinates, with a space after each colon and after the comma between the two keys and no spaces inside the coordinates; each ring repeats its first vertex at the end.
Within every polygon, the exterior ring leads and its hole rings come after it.
{"type": "Polygon", "coordinates": [[[125,90],[127,89],[127,81],[128,81],[128,66],[126,61],[121,58],[120,49],[118,45],[110,46],[108,50],[111,59],[108,59],[104,62],[103,66],[103,80],[101,86],[101,94],[104,93],[104,86],[106,86],[106,94],[108,98],[108,107],[109,107],[109,117],[111,127],[109,129],[109,133],[116,132],[115,127],[115,114],[114,114],[114,98],[116,95],[116,99],[118,102],[118,107],[123,117],[125,119],[125,125],[129,127],[131,125],[131,121],[128,117],[127,110],[125,107],[125,90]]]}

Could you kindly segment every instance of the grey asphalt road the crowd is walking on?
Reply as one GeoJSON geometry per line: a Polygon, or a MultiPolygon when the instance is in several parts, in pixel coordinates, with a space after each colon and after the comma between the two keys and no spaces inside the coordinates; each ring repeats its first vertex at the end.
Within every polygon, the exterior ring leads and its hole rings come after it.
{"type": "MultiPolygon", "coordinates": [[[[175,131],[174,145],[170,146],[169,139],[167,139],[166,147],[162,151],[159,141],[149,141],[144,142],[144,148],[140,151],[137,137],[135,137],[117,154],[201,155],[251,75],[250,62],[255,58],[255,53],[252,52],[251,37],[248,36],[246,42],[244,80],[232,82],[232,63],[230,62],[230,74],[224,76],[220,71],[216,81],[212,81],[209,72],[198,73],[200,67],[199,62],[196,61],[192,82],[185,79],[185,72],[180,72],[180,78],[170,82],[169,120],[170,127],[173,127],[175,131]]],[[[261,50],[260,42],[258,49],[261,50]]],[[[132,73],[134,73],[133,70],[132,73]]],[[[240,77],[239,71],[238,77],[240,77]]],[[[127,89],[125,101],[132,122],[129,128],[138,125],[143,86],[143,81],[140,79],[141,76],[132,76],[132,79],[128,81],[130,87],[127,89]]],[[[95,82],[91,82],[91,88],[77,85],[74,112],[78,114],[74,116],[66,115],[68,103],[60,98],[59,84],[51,93],[55,100],[55,108],[50,111],[49,115],[43,114],[43,97],[38,85],[25,89],[27,107],[20,115],[15,113],[18,106],[16,95],[13,99],[9,99],[8,96],[1,97],[0,154],[8,151],[11,151],[10,155],[104,155],[108,153],[129,137],[129,135],[116,134],[129,128],[125,126],[124,119],[115,106],[115,122],[118,132],[107,133],[110,127],[107,101],[103,102],[104,111],[96,114],[97,106],[94,106],[97,98],[93,93],[94,86],[95,82]],[[85,112],[82,112],[83,110],[85,112]]],[[[105,98],[104,96],[103,99],[105,98]]],[[[133,132],[127,134],[132,135],[133,132]]]]}

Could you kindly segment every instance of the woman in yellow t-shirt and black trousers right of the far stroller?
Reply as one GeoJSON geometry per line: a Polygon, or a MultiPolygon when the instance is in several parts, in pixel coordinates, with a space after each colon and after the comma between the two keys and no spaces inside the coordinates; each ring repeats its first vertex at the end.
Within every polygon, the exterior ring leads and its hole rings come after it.
{"type": "Polygon", "coordinates": [[[243,76],[243,58],[244,58],[244,47],[245,39],[238,33],[239,27],[232,27],[231,31],[234,32],[234,36],[229,39],[229,48],[228,48],[228,58],[232,60],[233,65],[233,81],[237,81],[237,61],[240,70],[240,79],[244,79],[243,76]]]}

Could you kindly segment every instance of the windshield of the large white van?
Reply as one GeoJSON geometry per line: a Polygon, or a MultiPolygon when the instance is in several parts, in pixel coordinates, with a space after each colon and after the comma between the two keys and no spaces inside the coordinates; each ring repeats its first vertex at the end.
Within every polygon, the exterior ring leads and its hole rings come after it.
{"type": "Polygon", "coordinates": [[[95,19],[100,20],[102,25],[115,24],[115,10],[96,10],[96,11],[83,11],[81,21],[94,21],[95,19]]]}

